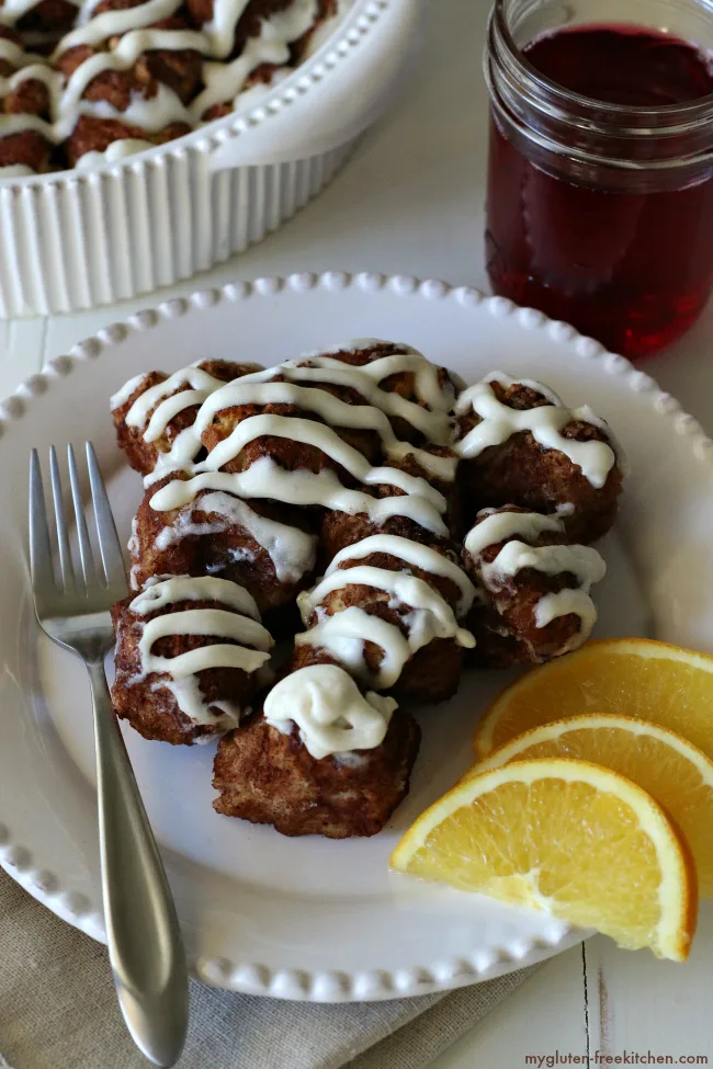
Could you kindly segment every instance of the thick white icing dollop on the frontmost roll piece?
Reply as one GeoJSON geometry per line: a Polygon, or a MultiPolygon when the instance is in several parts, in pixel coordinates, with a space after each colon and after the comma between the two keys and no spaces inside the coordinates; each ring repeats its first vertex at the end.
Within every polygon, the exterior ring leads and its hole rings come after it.
{"type": "Polygon", "coordinates": [[[393,698],[373,692],[364,697],[336,664],[312,664],[273,686],[264,718],[284,735],[296,724],[305,748],[320,761],[381,746],[396,708],[393,698]]]}

